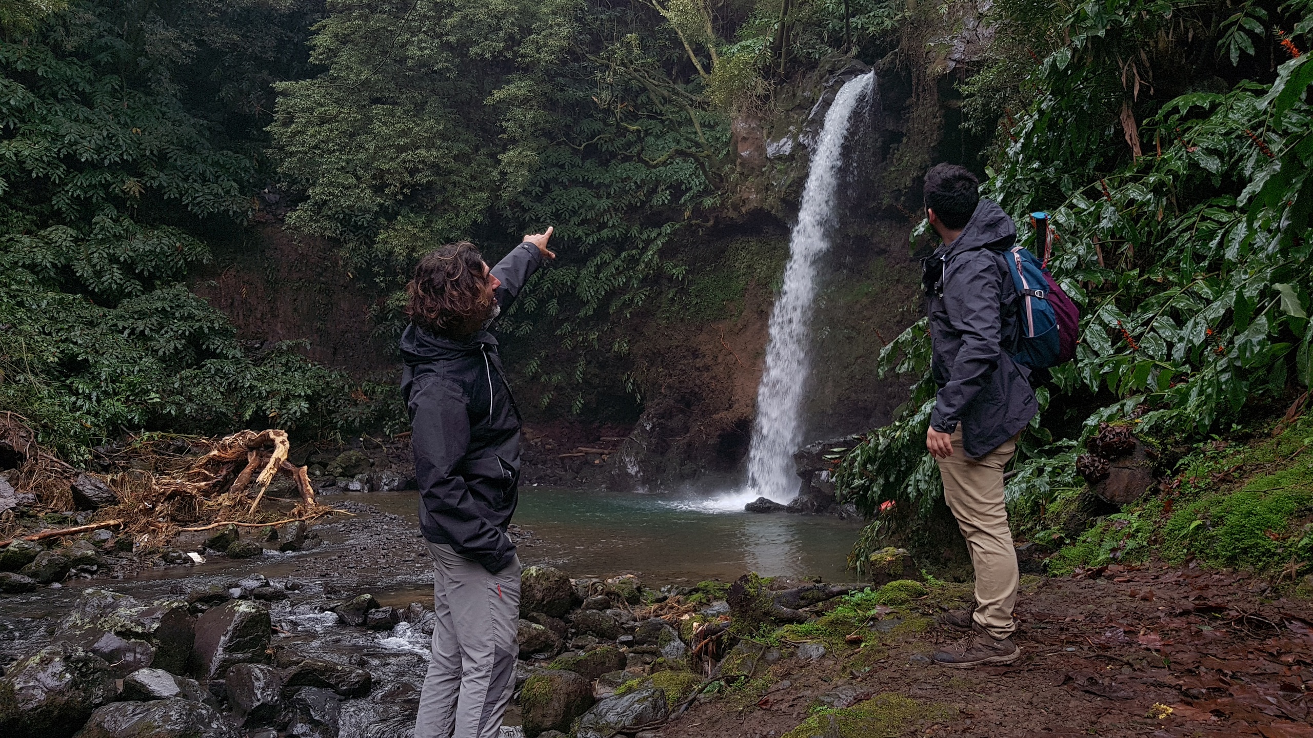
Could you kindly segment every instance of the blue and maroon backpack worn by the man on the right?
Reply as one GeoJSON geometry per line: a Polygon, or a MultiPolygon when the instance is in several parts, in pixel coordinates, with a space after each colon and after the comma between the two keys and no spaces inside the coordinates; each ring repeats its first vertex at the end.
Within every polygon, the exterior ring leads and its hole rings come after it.
{"type": "Polygon", "coordinates": [[[1049,369],[1075,357],[1081,310],[1048,271],[1052,255],[1048,213],[1032,213],[1031,221],[1044,243],[1044,261],[1020,246],[1003,253],[1020,297],[1020,335],[1012,361],[1031,369],[1049,369]]]}

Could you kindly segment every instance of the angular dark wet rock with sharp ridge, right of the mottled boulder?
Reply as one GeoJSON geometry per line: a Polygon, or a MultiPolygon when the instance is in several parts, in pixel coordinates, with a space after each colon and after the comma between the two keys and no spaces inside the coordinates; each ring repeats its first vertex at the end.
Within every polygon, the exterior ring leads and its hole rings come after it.
{"type": "Polygon", "coordinates": [[[210,608],[196,620],[196,646],[188,668],[200,679],[219,679],[238,663],[269,663],[269,611],[249,600],[210,608]]]}

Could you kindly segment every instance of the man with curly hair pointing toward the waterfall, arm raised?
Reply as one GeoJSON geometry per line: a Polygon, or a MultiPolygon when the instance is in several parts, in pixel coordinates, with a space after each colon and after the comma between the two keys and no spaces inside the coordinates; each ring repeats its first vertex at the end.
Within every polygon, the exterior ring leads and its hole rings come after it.
{"type": "Polygon", "coordinates": [[[487,327],[538,269],[551,228],[488,268],[471,243],[420,259],[406,285],[402,395],[420,532],[433,557],[433,657],[415,738],[492,738],[515,684],[520,561],[506,534],[520,479],[520,411],[487,327]]]}

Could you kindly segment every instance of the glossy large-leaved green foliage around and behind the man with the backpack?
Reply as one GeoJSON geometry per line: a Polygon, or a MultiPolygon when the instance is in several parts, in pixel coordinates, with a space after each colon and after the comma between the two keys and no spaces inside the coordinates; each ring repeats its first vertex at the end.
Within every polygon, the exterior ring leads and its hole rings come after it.
{"type": "MultiPolygon", "coordinates": [[[[1019,223],[1053,214],[1052,268],[1083,309],[1077,358],[1041,387],[1043,418],[1008,483],[1014,506],[1043,508],[1083,487],[1074,457],[1100,422],[1188,443],[1308,391],[1313,64],[1301,46],[1313,5],[997,12],[1016,33],[966,85],[978,116],[1004,121],[985,190],[1019,223]]],[[[927,343],[914,326],[882,370],[923,373],[927,343]]],[[[865,511],[939,498],[924,449],[932,395],[923,380],[897,422],[844,458],[840,485],[865,511]]],[[[868,545],[892,523],[877,520],[868,545]]]]}

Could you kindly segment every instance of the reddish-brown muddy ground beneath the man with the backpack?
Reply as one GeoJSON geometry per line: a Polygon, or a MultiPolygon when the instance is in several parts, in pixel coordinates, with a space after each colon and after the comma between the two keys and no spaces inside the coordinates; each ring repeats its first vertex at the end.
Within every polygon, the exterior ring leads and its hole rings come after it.
{"type": "MultiPolygon", "coordinates": [[[[1313,605],[1263,599],[1267,591],[1266,582],[1192,565],[1027,576],[1018,664],[931,664],[927,657],[958,636],[909,619],[878,645],[868,641],[877,654],[785,658],[754,689],[697,704],[655,735],[773,738],[810,708],[893,693],[916,703],[899,703],[901,725],[874,714],[851,735],[1313,737],[1313,605]]],[[[850,735],[827,730],[793,735],[850,735]]]]}

